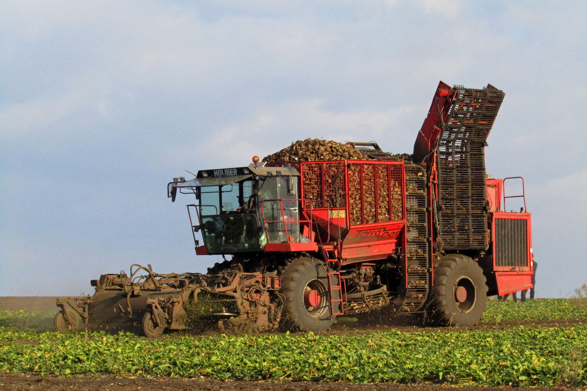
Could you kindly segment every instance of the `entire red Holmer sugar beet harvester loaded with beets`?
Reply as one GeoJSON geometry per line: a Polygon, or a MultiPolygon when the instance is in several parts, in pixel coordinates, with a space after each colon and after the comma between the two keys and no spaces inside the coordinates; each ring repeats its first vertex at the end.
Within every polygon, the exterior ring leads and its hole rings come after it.
{"type": "Polygon", "coordinates": [[[196,316],[235,332],[317,332],[339,315],[384,307],[434,324],[477,324],[488,295],[532,286],[524,181],[485,174],[503,98],[491,85],[440,82],[413,155],[375,142],[306,140],[246,167],[174,178],[171,200],[195,195],[187,209],[196,253],[225,261],[207,274],[137,264],[130,275],[104,274],[92,296],[58,300],[56,329],[76,330],[83,319],[159,336],[196,316]],[[508,182],[519,193],[506,195],[508,182]],[[511,198],[519,212],[507,212],[511,198]]]}

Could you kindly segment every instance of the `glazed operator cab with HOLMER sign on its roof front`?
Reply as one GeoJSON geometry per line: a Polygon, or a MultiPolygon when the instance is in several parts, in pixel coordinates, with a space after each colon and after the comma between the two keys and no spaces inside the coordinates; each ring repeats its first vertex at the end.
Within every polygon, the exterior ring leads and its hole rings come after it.
{"type": "Polygon", "coordinates": [[[188,211],[197,212],[200,224],[193,230],[201,230],[208,254],[234,254],[299,241],[298,178],[291,166],[254,162],[198,171],[191,181],[174,178],[167,191],[172,201],[177,189],[195,195],[198,205],[188,205],[188,211]]]}

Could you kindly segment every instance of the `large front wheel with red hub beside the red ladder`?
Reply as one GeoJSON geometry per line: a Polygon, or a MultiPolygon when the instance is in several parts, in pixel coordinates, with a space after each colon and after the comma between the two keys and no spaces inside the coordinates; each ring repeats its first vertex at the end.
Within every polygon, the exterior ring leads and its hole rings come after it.
{"type": "Polygon", "coordinates": [[[281,294],[285,297],[283,330],[318,332],[332,327],[335,317],[330,311],[328,274],[321,261],[301,257],[288,264],[281,276],[281,294]]]}

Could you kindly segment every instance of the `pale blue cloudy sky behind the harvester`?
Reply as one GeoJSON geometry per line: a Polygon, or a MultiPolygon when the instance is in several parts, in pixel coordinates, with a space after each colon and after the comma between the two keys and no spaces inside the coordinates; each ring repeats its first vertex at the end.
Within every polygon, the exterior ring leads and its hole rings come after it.
{"type": "Polygon", "coordinates": [[[204,272],[166,185],[292,141],[411,152],[438,80],[506,97],[487,171],[524,176],[539,297],[587,283],[581,1],[0,4],[0,295],[204,272]]]}

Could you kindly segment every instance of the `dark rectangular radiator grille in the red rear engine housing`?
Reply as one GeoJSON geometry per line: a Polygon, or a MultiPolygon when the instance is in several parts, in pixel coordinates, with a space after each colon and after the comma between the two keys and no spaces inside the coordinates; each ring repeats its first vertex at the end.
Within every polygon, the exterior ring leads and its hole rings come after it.
{"type": "Polygon", "coordinates": [[[528,266],[527,220],[495,219],[495,266],[528,266]]]}

